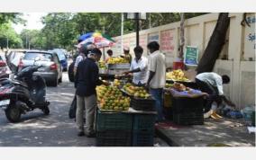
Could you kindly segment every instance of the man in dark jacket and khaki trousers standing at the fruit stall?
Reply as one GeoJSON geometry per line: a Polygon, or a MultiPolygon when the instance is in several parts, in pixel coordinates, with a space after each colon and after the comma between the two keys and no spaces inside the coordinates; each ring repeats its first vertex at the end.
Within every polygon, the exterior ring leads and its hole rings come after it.
{"type": "Polygon", "coordinates": [[[77,125],[78,136],[86,136],[88,138],[95,137],[94,121],[96,111],[96,85],[106,84],[99,79],[98,67],[96,62],[102,56],[100,49],[89,49],[87,58],[78,64],[76,74],[77,85],[77,125]],[[86,130],[84,129],[83,110],[86,108],[86,130]]]}

